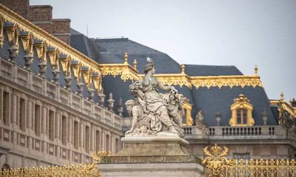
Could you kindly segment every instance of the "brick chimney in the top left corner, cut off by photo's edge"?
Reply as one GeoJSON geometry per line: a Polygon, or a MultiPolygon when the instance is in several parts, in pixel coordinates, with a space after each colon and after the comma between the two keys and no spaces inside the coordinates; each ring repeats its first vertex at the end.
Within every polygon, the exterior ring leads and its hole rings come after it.
{"type": "Polygon", "coordinates": [[[30,0],[0,0],[0,3],[25,19],[28,19],[30,0]]]}

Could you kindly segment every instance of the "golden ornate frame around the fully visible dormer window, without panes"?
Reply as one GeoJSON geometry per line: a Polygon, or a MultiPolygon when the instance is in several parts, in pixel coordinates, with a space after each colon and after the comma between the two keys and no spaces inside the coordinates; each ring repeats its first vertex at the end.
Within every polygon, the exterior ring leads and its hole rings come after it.
{"type": "Polygon", "coordinates": [[[230,106],[231,118],[229,119],[230,126],[252,126],[255,124],[255,120],[252,117],[253,105],[250,104],[250,100],[245,97],[243,94],[239,95],[239,98],[233,99],[234,103],[230,106]],[[240,109],[247,110],[247,123],[244,124],[243,121],[241,124],[237,122],[237,111],[240,109]]]}

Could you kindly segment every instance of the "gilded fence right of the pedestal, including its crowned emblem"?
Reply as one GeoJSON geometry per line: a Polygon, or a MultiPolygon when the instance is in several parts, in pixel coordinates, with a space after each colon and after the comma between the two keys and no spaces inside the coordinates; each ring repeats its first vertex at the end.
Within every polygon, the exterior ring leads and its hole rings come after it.
{"type": "Polygon", "coordinates": [[[260,159],[249,161],[240,159],[226,159],[224,156],[228,152],[228,148],[214,147],[204,148],[207,155],[205,159],[201,159],[201,163],[205,165],[206,177],[295,177],[296,162],[292,160],[273,160],[260,159]],[[222,150],[222,151],[221,151],[222,150]]]}

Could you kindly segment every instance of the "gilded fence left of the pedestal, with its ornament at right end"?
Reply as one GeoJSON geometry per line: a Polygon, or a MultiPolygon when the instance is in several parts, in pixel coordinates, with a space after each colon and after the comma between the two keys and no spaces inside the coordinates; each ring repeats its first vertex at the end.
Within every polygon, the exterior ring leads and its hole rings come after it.
{"type": "Polygon", "coordinates": [[[101,148],[101,151],[97,153],[92,152],[92,164],[3,169],[0,170],[0,177],[101,177],[101,172],[98,170],[97,164],[101,162],[101,157],[110,155],[112,155],[111,151],[107,154],[101,148]]]}

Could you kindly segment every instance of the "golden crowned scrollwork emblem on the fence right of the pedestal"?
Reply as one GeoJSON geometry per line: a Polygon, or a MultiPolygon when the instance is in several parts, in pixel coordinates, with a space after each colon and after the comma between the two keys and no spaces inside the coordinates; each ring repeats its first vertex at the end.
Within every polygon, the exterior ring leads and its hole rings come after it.
{"type": "Polygon", "coordinates": [[[208,147],[204,148],[205,159],[201,159],[201,164],[205,165],[206,163],[206,168],[209,169],[210,173],[207,174],[207,177],[220,177],[224,176],[224,165],[233,165],[234,160],[230,159],[227,160],[224,156],[228,152],[228,148],[224,147],[224,150],[222,152],[221,148],[215,144],[214,147],[211,148],[211,152],[208,150],[208,147]]]}

